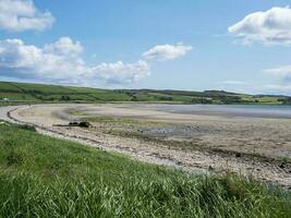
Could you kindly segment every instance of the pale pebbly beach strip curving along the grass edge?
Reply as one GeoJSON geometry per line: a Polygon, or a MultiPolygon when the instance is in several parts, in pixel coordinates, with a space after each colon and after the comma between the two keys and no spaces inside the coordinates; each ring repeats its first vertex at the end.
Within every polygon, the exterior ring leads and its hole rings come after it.
{"type": "MultiPolygon", "coordinates": [[[[50,107],[53,108],[53,106],[50,107]]],[[[283,169],[279,169],[278,166],[274,166],[271,164],[262,165],[262,162],[250,162],[250,160],[243,158],[226,158],[217,154],[202,152],[193,152],[190,154],[189,152],[168,149],[166,145],[148,145],[148,143],[140,142],[136,138],[128,138],[126,141],[124,138],[112,137],[110,135],[105,135],[101,138],[93,137],[89,134],[85,134],[84,132],[86,131],[64,131],[64,129],[46,126],[37,124],[36,122],[28,122],[24,119],[25,117],[20,117],[19,112],[29,108],[34,107],[21,106],[13,108],[8,112],[8,117],[14,122],[21,122],[36,128],[37,132],[41,134],[78,142],[83,145],[93,146],[106,152],[120,153],[128,155],[135,160],[175,167],[198,173],[208,172],[209,169],[210,171],[219,169],[218,172],[230,170],[242,174],[252,174],[256,179],[275,182],[283,186],[291,186],[291,171],[289,173],[284,173],[283,169]],[[138,146],[136,147],[137,144],[138,146]]]]}

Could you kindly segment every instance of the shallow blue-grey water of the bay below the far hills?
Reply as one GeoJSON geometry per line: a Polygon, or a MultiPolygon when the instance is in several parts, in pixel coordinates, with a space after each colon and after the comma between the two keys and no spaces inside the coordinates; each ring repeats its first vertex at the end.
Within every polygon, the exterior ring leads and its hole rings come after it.
{"type": "Polygon", "coordinates": [[[160,111],[189,114],[209,114],[250,118],[291,119],[291,106],[266,105],[144,105],[160,111]]]}

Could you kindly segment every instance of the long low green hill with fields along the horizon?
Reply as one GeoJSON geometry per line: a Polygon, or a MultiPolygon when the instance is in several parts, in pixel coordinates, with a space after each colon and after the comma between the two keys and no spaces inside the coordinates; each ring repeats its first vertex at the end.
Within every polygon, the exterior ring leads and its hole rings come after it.
{"type": "Polygon", "coordinates": [[[167,102],[289,105],[288,96],[247,95],[225,90],[100,89],[33,83],[0,82],[1,102],[167,102]]]}

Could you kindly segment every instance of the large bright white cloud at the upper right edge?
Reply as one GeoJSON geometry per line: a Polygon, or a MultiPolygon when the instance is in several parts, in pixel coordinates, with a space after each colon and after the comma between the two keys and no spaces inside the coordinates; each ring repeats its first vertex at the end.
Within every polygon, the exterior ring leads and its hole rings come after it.
{"type": "Polygon", "coordinates": [[[275,7],[246,15],[228,28],[245,44],[291,44],[291,9],[275,7]]]}

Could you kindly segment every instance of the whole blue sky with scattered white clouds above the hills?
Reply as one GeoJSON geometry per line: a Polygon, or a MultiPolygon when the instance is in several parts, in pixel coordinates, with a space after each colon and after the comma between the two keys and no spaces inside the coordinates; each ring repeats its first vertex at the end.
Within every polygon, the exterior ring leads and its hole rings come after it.
{"type": "Polygon", "coordinates": [[[291,95],[290,3],[0,0],[0,80],[291,95]]]}

